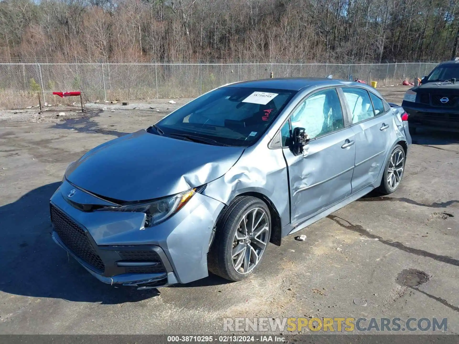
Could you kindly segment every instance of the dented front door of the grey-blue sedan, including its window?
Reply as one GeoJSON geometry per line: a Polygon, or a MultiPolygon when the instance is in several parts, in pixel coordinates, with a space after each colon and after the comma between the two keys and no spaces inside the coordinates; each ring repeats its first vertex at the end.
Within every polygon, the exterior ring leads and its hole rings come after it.
{"type": "MultiPolygon", "coordinates": [[[[285,139],[291,197],[291,224],[298,224],[351,194],[355,134],[344,121],[335,88],[309,95],[292,112],[290,133],[305,128],[310,142],[294,155],[285,139]]],[[[285,136],[287,130],[283,128],[285,136]]]]}

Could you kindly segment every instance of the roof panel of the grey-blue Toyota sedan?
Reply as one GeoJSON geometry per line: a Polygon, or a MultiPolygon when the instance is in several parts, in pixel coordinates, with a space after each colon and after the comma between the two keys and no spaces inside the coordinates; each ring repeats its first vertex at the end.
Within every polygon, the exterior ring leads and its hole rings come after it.
{"type": "MultiPolygon", "coordinates": [[[[329,78],[270,78],[230,83],[222,87],[246,87],[256,89],[285,89],[299,91],[308,86],[358,86],[369,88],[364,83],[329,78]]],[[[374,90],[373,90],[374,92],[374,90]]]]}

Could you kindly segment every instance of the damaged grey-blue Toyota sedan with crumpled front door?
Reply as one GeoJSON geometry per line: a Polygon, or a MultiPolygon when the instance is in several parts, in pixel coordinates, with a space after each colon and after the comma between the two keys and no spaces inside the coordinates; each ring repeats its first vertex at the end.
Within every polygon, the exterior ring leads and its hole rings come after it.
{"type": "Polygon", "coordinates": [[[246,278],[271,242],[400,184],[403,108],[362,83],[232,83],[67,167],[52,237],[105,283],[246,278]]]}

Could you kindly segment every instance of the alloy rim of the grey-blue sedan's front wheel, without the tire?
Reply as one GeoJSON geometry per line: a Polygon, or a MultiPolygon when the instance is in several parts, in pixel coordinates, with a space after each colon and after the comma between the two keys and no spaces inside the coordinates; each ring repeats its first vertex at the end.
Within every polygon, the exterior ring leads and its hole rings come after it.
{"type": "Polygon", "coordinates": [[[248,211],[239,222],[233,238],[232,261],[236,272],[251,272],[263,255],[269,240],[269,221],[262,208],[248,211]]]}

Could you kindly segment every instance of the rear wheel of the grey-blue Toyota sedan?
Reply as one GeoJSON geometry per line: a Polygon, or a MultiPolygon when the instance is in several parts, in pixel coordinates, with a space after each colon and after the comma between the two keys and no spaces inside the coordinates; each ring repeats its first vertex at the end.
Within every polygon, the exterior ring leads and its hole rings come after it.
{"type": "Polygon", "coordinates": [[[389,155],[386,166],[384,166],[384,173],[378,190],[381,194],[392,194],[398,189],[405,172],[405,160],[405,151],[400,144],[397,144],[389,155]]]}

